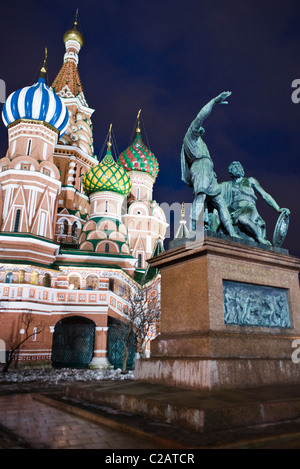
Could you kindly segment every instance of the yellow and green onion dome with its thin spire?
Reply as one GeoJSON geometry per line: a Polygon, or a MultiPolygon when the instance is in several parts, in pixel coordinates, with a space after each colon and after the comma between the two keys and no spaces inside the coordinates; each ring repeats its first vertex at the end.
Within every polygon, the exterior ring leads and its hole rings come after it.
{"type": "Polygon", "coordinates": [[[87,195],[93,192],[112,191],[128,195],[131,179],[125,169],[115,162],[108,142],[107,152],[101,163],[90,169],[83,178],[83,189],[87,195]]]}

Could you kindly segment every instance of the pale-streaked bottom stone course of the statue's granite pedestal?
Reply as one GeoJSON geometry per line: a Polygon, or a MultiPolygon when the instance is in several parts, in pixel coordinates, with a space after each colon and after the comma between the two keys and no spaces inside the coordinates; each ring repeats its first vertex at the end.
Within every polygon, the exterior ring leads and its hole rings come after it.
{"type": "Polygon", "coordinates": [[[300,366],[274,358],[148,358],[137,361],[135,379],[194,391],[299,385],[300,366]]]}

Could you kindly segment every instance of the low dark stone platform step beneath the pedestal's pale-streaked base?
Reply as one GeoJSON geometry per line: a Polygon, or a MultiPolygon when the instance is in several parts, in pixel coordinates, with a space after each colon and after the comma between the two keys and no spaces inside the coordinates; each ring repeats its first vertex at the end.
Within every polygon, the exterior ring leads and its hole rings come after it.
{"type": "Polygon", "coordinates": [[[300,418],[299,386],[192,391],[137,381],[102,382],[69,385],[66,396],[196,432],[275,424],[300,418]]]}

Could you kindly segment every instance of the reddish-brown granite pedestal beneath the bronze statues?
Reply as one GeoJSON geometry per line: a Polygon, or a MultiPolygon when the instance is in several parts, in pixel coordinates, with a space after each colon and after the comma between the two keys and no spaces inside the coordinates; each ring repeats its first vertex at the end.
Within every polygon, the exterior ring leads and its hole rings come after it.
{"type": "Polygon", "coordinates": [[[136,380],[199,390],[300,384],[300,363],[292,360],[300,338],[297,257],[205,236],[149,262],[161,271],[161,334],[151,357],[137,361],[136,380]],[[269,326],[258,325],[265,306],[237,324],[226,311],[226,285],[250,288],[252,306],[257,288],[283,294],[286,303],[277,319],[269,307],[269,326]],[[279,327],[281,313],[287,318],[279,327]]]}

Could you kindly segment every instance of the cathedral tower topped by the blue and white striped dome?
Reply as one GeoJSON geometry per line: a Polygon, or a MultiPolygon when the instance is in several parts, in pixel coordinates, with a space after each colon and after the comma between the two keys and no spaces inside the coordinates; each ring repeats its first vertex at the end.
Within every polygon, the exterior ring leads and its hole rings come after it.
{"type": "Polygon", "coordinates": [[[0,230],[4,259],[50,264],[58,248],[53,241],[61,189],[53,152],[69,115],[45,83],[45,62],[37,83],[13,92],[3,105],[9,145],[0,165],[0,230]]]}

